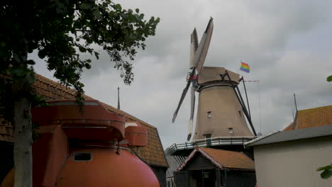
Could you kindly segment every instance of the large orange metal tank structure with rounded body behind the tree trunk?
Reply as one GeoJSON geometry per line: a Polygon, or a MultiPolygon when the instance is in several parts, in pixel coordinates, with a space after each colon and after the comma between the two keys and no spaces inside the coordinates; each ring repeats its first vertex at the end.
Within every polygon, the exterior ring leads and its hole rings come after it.
{"type": "MultiPolygon", "coordinates": [[[[125,129],[125,118],[99,101],[86,101],[83,111],[78,112],[74,101],[33,108],[33,123],[40,125],[40,140],[33,144],[34,187],[160,186],[153,170],[130,148],[147,145],[145,128],[137,123],[125,129]]],[[[13,170],[4,186],[13,186],[13,170]]]]}

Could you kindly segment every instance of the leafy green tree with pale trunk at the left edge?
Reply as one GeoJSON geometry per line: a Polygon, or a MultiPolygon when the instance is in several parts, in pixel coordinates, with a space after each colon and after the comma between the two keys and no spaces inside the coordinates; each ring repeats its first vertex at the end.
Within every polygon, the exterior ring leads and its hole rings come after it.
{"type": "Polygon", "coordinates": [[[137,48],[155,35],[160,18],[145,20],[139,9],[123,9],[111,0],[2,0],[0,3],[0,117],[13,123],[15,186],[32,186],[31,103],[35,101],[33,60],[38,50],[54,77],[77,91],[84,102],[84,69],[87,53],[99,59],[94,46],[108,52],[125,84],[133,81],[132,64],[137,48]]]}

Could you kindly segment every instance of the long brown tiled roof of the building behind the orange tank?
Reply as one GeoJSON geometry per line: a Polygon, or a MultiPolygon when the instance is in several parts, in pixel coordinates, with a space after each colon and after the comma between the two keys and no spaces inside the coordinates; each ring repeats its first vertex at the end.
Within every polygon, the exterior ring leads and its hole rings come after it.
{"type": "MultiPolygon", "coordinates": [[[[57,83],[56,81],[47,79],[40,74],[36,74],[35,77],[36,81],[33,86],[35,87],[38,95],[45,96],[46,101],[74,99],[75,91],[73,89],[69,89],[62,84],[57,83]]],[[[86,95],[84,95],[84,98],[94,99],[86,95]]],[[[104,107],[106,107],[109,111],[125,116],[126,121],[138,121],[145,128],[147,128],[148,145],[146,147],[137,148],[135,151],[137,151],[138,155],[146,162],[148,162],[148,164],[156,166],[168,166],[157,128],[155,128],[153,125],[145,123],[143,120],[135,118],[133,115],[118,110],[117,108],[109,106],[106,103],[103,104],[104,107]]],[[[13,142],[13,127],[11,124],[6,123],[2,125],[0,122],[0,140],[13,142]]]]}

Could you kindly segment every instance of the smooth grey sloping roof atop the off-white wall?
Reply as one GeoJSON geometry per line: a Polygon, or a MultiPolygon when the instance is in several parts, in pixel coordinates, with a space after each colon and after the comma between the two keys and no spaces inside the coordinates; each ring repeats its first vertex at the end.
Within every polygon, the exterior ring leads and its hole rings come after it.
{"type": "Polygon", "coordinates": [[[303,128],[299,130],[287,130],[275,132],[259,139],[251,140],[245,144],[246,147],[257,145],[268,145],[279,142],[289,142],[294,140],[304,140],[314,137],[332,137],[332,125],[324,125],[315,128],[303,128]]]}

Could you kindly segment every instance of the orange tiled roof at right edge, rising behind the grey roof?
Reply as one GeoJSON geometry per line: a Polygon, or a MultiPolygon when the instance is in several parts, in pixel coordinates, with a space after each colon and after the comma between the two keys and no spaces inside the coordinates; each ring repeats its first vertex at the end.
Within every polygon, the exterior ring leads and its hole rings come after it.
{"type": "Polygon", "coordinates": [[[332,106],[322,106],[297,111],[297,118],[293,129],[293,123],[284,130],[298,130],[302,128],[314,128],[332,124],[332,106]]]}

